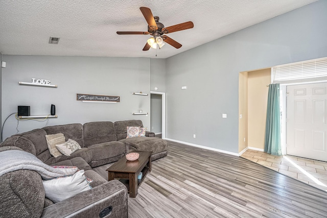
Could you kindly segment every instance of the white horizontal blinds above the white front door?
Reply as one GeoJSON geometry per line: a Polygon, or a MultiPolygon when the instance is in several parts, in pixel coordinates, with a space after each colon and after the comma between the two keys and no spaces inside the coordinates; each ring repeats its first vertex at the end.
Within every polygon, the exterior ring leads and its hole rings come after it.
{"type": "Polygon", "coordinates": [[[273,83],[327,80],[327,58],[279,65],[272,68],[273,83]]]}

